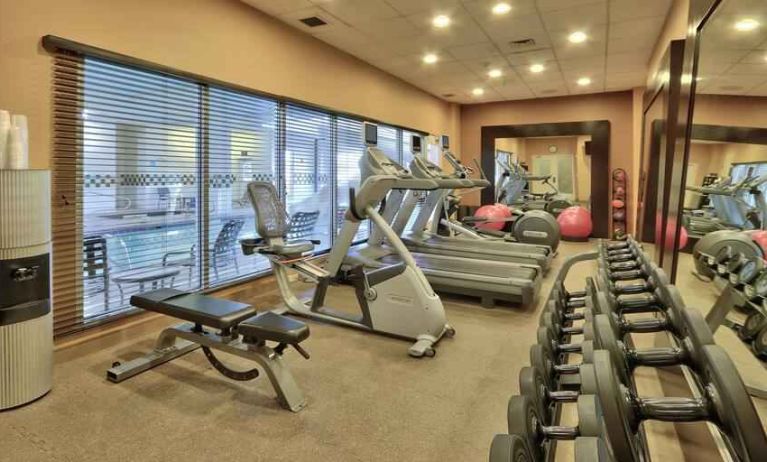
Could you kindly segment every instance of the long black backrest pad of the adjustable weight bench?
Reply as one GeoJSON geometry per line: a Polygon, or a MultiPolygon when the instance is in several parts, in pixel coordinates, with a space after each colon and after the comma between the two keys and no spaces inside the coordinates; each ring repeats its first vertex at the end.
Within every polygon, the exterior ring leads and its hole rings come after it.
{"type": "Polygon", "coordinates": [[[137,308],[220,330],[230,329],[257,313],[244,303],[176,289],[144,292],[132,296],[130,302],[137,308]]]}

